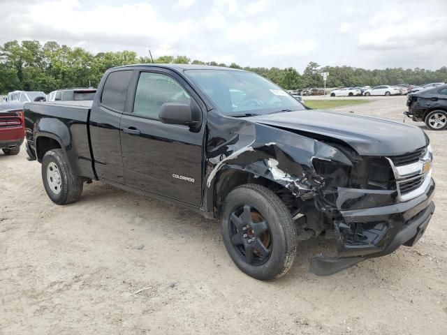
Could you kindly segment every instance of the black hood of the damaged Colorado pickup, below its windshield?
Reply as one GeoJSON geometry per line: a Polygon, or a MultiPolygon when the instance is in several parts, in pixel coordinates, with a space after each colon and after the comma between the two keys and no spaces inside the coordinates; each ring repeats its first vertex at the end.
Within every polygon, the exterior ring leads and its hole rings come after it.
{"type": "Polygon", "coordinates": [[[427,145],[425,134],[416,126],[357,114],[298,110],[247,120],[342,140],[363,156],[396,156],[427,145]]]}

